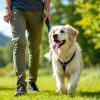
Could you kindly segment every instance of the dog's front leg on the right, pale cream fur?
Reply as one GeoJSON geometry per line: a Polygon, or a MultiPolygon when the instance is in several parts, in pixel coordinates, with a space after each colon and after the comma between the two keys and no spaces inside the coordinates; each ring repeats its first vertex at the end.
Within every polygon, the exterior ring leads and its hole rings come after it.
{"type": "Polygon", "coordinates": [[[80,76],[80,72],[74,72],[71,75],[71,79],[70,79],[70,83],[68,84],[68,89],[67,89],[67,94],[68,95],[73,95],[75,90],[76,90],[76,86],[77,86],[77,82],[80,76]]]}

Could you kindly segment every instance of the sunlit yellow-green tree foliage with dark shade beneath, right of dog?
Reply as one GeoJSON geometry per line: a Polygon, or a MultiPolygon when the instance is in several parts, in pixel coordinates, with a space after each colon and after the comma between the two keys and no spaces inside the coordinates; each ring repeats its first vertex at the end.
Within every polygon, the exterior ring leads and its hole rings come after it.
{"type": "MultiPolygon", "coordinates": [[[[92,63],[100,62],[100,1],[99,0],[76,0],[77,6],[75,14],[79,14],[81,19],[74,24],[83,30],[82,43],[85,51],[84,60],[92,63]],[[88,59],[87,59],[88,58],[88,59]]],[[[82,36],[80,36],[82,37],[82,36]]],[[[81,39],[81,38],[80,38],[81,39]]]]}

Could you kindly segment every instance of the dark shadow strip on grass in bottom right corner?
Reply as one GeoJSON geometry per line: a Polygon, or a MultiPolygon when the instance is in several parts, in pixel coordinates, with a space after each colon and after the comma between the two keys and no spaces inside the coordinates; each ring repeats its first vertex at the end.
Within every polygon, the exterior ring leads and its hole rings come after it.
{"type": "Polygon", "coordinates": [[[97,97],[97,98],[100,98],[100,91],[90,91],[90,92],[84,92],[84,91],[80,91],[80,96],[82,97],[97,97]]]}

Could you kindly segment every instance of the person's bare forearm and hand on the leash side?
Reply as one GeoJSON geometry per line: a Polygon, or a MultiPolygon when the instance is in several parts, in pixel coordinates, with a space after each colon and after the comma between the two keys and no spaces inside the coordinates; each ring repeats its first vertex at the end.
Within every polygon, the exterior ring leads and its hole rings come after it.
{"type": "Polygon", "coordinates": [[[50,20],[50,0],[44,0],[45,19],[50,20]]]}

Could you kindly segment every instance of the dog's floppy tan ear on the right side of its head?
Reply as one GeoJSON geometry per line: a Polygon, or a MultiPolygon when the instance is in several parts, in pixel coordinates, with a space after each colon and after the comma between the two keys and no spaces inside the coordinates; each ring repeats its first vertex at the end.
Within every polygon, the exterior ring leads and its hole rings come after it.
{"type": "Polygon", "coordinates": [[[77,37],[79,31],[70,25],[65,25],[65,27],[68,29],[68,34],[69,34],[70,40],[73,41],[74,38],[77,37]]]}

